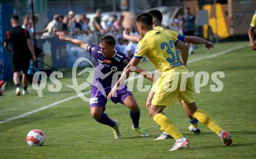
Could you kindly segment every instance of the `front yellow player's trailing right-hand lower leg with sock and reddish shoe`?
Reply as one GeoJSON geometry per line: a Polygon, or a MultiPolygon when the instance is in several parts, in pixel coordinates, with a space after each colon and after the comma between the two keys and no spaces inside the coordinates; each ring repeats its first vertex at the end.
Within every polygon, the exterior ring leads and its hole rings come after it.
{"type": "Polygon", "coordinates": [[[187,107],[184,107],[184,110],[187,112],[189,117],[196,118],[202,124],[205,124],[209,129],[215,132],[224,142],[226,146],[232,144],[232,137],[230,133],[224,131],[219,125],[214,121],[214,119],[208,115],[205,111],[198,109],[197,104],[186,103],[187,107]]]}

